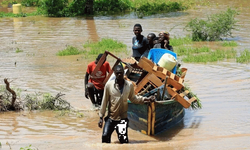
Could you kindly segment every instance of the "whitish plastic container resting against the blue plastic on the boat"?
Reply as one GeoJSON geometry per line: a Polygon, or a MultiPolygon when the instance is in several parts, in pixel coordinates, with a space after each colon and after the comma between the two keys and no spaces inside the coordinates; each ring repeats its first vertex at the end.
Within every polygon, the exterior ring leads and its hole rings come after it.
{"type": "Polygon", "coordinates": [[[177,60],[175,57],[171,54],[163,54],[158,62],[158,65],[160,67],[166,68],[168,71],[172,71],[172,69],[175,67],[177,63],[177,60]]]}

